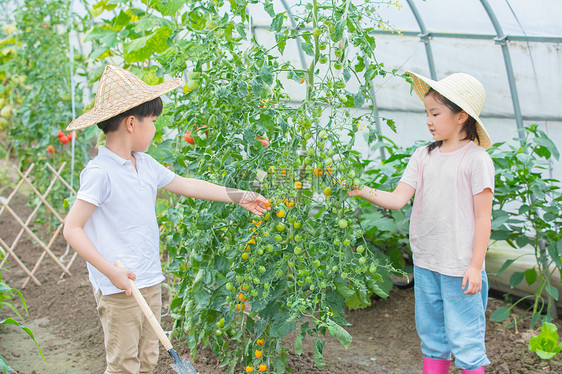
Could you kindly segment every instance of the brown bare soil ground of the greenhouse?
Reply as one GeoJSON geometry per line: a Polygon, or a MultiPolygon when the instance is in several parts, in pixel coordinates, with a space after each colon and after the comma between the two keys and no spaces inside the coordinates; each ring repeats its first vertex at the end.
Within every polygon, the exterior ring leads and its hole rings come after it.
{"type": "MultiPolygon", "coordinates": [[[[4,196],[6,193],[4,192],[4,196]]],[[[29,209],[26,198],[18,196],[10,205],[26,217],[29,209]]],[[[19,232],[19,225],[6,212],[0,216],[0,238],[10,244],[19,232]]],[[[59,238],[54,253],[61,257],[66,245],[59,238]]],[[[32,267],[42,249],[24,235],[16,248],[17,256],[32,267]]],[[[68,261],[70,254],[64,259],[68,261]]],[[[0,355],[19,373],[31,374],[92,374],[104,370],[103,333],[95,309],[95,301],[88,281],[85,262],[77,258],[70,271],[72,276],[61,278],[61,270],[49,257],[45,257],[36,275],[42,282],[32,282],[21,289],[24,272],[12,258],[0,269],[2,281],[20,289],[25,297],[29,314],[23,324],[31,328],[39,342],[45,360],[39,355],[33,341],[14,326],[0,326],[0,355]]],[[[500,295],[501,298],[501,295],[500,295]]],[[[166,305],[166,301],[164,301],[166,305]]],[[[18,304],[19,305],[19,304],[18,304]]],[[[505,305],[501,299],[491,299],[488,316],[497,307],[505,305]]],[[[20,308],[21,310],[21,308],[20,308]]],[[[522,313],[522,311],[516,311],[522,313]]],[[[0,310],[0,320],[12,316],[6,308],[0,310]]],[[[385,300],[376,300],[363,310],[351,311],[348,331],[353,342],[346,350],[339,342],[328,337],[324,348],[329,368],[321,373],[421,373],[422,356],[414,327],[413,289],[395,289],[385,300]]],[[[556,321],[559,330],[562,324],[556,321]]],[[[172,321],[164,318],[164,328],[172,321]]],[[[529,339],[537,330],[526,325],[518,330],[488,320],[486,345],[492,364],[488,373],[562,373],[562,360],[548,362],[538,358],[527,348],[529,339]]],[[[287,347],[294,345],[294,333],[287,336],[287,347]]],[[[188,351],[174,342],[180,356],[190,359],[188,351]]],[[[312,345],[305,341],[301,356],[291,353],[293,373],[320,373],[312,359],[312,345]]],[[[161,349],[156,374],[174,373],[168,354],[161,349]]],[[[217,359],[209,350],[202,350],[194,366],[201,374],[223,373],[217,359]]],[[[460,373],[451,368],[450,373],[460,373]]]]}

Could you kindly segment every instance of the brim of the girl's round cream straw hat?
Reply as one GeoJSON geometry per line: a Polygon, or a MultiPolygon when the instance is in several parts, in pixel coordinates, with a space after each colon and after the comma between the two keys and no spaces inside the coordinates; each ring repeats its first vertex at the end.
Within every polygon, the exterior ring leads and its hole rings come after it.
{"type": "Polygon", "coordinates": [[[448,92],[445,87],[442,87],[439,84],[439,82],[424,77],[423,75],[413,73],[411,71],[407,71],[406,74],[412,77],[412,80],[414,81],[414,91],[421,99],[421,101],[424,101],[427,91],[429,91],[430,88],[433,88],[435,91],[439,92],[441,95],[458,105],[469,116],[476,120],[476,133],[478,134],[479,140],[475,139],[474,142],[484,149],[489,149],[492,147],[492,139],[490,138],[490,135],[488,135],[488,132],[486,131],[486,128],[484,127],[484,124],[482,123],[482,120],[477,113],[475,113],[471,108],[463,105],[463,103],[461,103],[460,101],[456,100],[455,95],[448,92]]]}

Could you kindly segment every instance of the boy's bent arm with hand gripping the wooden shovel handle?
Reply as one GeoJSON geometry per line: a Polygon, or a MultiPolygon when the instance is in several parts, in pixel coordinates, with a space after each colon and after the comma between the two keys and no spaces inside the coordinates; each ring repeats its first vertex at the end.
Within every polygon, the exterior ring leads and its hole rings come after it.
{"type": "Polygon", "coordinates": [[[108,277],[115,287],[125,290],[127,295],[130,296],[132,295],[132,289],[129,279],[135,280],[135,274],[107,261],[84,232],[84,226],[96,208],[94,204],[76,199],[66,216],[63,230],[64,238],[82,258],[108,277]]]}

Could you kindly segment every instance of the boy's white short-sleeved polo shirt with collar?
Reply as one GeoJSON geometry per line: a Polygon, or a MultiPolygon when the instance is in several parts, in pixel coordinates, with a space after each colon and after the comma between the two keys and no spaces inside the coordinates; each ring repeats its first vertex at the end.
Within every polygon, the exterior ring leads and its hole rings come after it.
{"type": "MultiPolygon", "coordinates": [[[[104,146],[80,174],[77,199],[97,206],[84,226],[86,235],[109,262],[121,260],[136,275],[138,288],[164,280],[160,264],[156,193],[175,174],[146,153],[133,153],[137,169],[129,160],[104,146]]],[[[88,263],[90,282],[97,292],[123,292],[88,263]]]]}

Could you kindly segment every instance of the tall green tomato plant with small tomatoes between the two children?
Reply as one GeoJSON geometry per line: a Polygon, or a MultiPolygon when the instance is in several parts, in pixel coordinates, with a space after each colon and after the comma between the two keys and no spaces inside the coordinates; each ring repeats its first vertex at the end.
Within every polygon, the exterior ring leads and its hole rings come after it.
{"type": "Polygon", "coordinates": [[[385,297],[381,274],[391,270],[367,245],[348,195],[366,164],[355,141],[376,138],[372,112],[360,109],[373,105],[373,79],[394,74],[375,57],[374,4],[313,1],[291,14],[244,0],[92,9],[104,11],[114,17],[89,31],[92,58],[121,56],[154,83],[165,74],[186,81],[170,94],[149,152],[180,175],[258,191],[272,205],[256,217],[223,203],[159,202],[175,334],[194,357],[211,347],[229,371],[284,372],[281,341],[298,327],[295,350],[311,336],[325,367],[324,335],[348,346],[346,303],[385,297]],[[274,44],[248,34],[250,6],[271,17],[274,44]],[[285,26],[289,17],[296,28],[285,26]],[[307,66],[284,57],[297,42],[307,66]],[[302,102],[291,102],[289,86],[302,102]]]}

